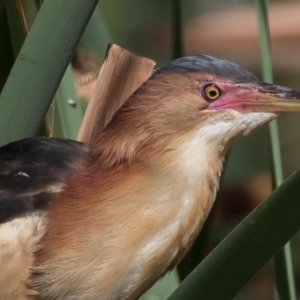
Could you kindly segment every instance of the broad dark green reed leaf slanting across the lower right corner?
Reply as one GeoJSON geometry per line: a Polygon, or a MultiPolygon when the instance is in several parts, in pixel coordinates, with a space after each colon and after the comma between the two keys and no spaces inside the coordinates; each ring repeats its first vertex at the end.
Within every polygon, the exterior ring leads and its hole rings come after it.
{"type": "Polygon", "coordinates": [[[232,299],[300,229],[300,170],[278,187],[168,298],[232,299]]]}

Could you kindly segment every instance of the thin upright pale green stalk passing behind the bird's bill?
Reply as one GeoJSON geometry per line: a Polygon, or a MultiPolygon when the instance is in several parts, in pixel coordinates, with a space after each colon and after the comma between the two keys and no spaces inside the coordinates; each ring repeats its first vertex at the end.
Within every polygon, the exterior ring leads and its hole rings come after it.
{"type": "MultiPolygon", "coordinates": [[[[270,34],[268,26],[268,3],[256,0],[259,35],[262,55],[263,80],[273,82],[270,34]]],[[[280,141],[277,120],[269,124],[269,135],[272,158],[273,189],[283,182],[280,141]]],[[[275,278],[278,297],[281,300],[296,300],[290,244],[287,243],[275,256],[275,278]]]]}

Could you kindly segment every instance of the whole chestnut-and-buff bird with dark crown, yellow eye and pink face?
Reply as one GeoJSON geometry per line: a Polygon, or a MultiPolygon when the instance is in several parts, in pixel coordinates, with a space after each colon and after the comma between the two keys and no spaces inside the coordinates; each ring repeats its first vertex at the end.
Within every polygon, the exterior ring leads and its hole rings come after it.
{"type": "Polygon", "coordinates": [[[0,299],[138,299],[184,257],[225,154],[300,92],[209,55],[157,69],[89,145],[0,148],[0,299]]]}

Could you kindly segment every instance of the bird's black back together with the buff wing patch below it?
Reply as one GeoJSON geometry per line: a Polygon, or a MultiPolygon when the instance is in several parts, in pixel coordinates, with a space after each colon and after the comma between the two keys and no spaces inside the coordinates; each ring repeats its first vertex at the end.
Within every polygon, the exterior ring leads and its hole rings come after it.
{"type": "Polygon", "coordinates": [[[28,138],[0,148],[0,299],[27,299],[34,252],[46,230],[44,210],[88,147],[28,138]]]}

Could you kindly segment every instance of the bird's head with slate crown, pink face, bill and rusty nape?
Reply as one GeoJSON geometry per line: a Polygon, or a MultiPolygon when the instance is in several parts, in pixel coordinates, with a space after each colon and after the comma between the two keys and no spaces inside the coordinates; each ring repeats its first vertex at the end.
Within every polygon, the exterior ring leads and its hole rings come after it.
{"type": "Polygon", "coordinates": [[[199,132],[226,150],[239,134],[249,133],[279,113],[300,111],[299,100],[299,91],[260,82],[227,60],[182,57],[158,69],[125,102],[99,144],[118,132],[117,141],[105,149],[110,149],[110,155],[115,153],[113,148],[124,149],[127,157],[134,157],[145,145],[159,148],[162,137],[199,132]]]}

